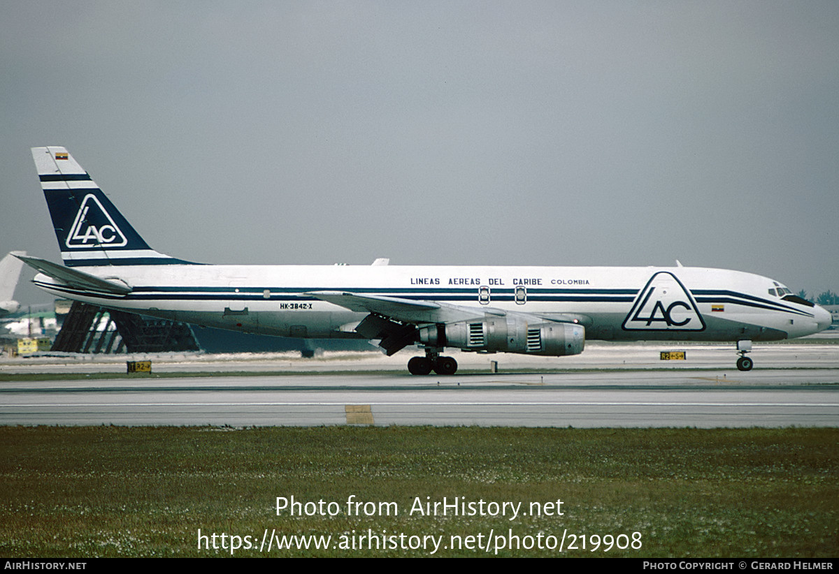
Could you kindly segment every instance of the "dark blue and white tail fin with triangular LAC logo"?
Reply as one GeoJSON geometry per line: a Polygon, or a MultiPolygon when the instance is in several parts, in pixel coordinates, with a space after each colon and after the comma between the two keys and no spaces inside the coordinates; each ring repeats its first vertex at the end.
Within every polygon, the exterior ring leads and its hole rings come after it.
{"type": "Polygon", "coordinates": [[[33,147],[65,266],[188,263],[154,251],[65,147],[33,147]]]}

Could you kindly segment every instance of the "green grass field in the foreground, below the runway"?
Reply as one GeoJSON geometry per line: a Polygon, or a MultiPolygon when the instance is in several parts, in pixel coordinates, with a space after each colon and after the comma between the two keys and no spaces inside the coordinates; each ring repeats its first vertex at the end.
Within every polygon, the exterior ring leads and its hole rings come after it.
{"type": "Polygon", "coordinates": [[[0,427],[0,445],[3,556],[230,556],[231,535],[234,556],[558,556],[563,534],[564,556],[839,555],[837,429],[0,427]],[[375,504],[348,515],[351,495],[375,504]],[[278,515],[292,496],[324,512],[278,515]],[[444,497],[527,515],[411,513],[444,497]],[[260,551],[266,531],[332,539],[260,551]]]}

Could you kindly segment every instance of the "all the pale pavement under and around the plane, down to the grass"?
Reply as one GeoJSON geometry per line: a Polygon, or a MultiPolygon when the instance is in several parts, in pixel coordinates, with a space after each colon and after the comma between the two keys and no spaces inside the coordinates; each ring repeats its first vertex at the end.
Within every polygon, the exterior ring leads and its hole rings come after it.
{"type": "MultiPolygon", "coordinates": [[[[590,344],[559,359],[453,353],[461,369],[484,372],[449,377],[408,375],[409,353],[129,357],[152,359],[154,373],[214,375],[10,380],[0,383],[0,424],[839,427],[839,345],[761,346],[748,373],[733,368],[730,345],[687,346],[688,360],[660,361],[668,349],[685,346],[590,344]],[[491,360],[538,372],[490,374],[491,360]],[[271,374],[225,375],[233,371],[271,374]]],[[[124,373],[125,360],[14,359],[0,371],[124,373]]]]}

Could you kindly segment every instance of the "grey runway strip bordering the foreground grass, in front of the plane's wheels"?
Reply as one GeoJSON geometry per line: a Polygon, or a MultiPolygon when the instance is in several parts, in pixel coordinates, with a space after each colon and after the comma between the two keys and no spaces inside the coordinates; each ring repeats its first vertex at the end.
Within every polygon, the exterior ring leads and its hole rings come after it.
{"type": "Polygon", "coordinates": [[[0,387],[0,424],[837,427],[837,380],[839,369],[18,382],[0,387]]]}

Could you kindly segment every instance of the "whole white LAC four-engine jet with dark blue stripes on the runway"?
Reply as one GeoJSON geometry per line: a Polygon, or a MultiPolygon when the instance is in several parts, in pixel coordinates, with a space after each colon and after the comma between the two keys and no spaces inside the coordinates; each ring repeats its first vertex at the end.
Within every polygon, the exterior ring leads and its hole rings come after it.
{"type": "MultiPolygon", "coordinates": [[[[414,375],[451,375],[446,347],[573,355],[586,339],[737,343],[817,333],[825,309],[779,282],[698,267],[228,266],[154,251],[64,147],[34,147],[64,265],[21,256],[50,293],[249,333],[419,345],[414,375]]],[[[678,263],[678,261],[677,261],[678,263]]]]}

